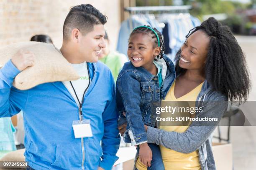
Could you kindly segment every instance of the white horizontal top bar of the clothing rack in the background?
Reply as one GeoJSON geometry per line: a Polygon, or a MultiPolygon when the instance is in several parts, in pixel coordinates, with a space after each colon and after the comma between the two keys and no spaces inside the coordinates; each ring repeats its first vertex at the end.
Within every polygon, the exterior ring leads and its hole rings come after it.
{"type": "Polygon", "coordinates": [[[171,13],[188,13],[192,9],[191,5],[179,5],[179,6],[143,6],[143,7],[125,7],[124,10],[130,14],[136,12],[171,12],[171,13]]]}

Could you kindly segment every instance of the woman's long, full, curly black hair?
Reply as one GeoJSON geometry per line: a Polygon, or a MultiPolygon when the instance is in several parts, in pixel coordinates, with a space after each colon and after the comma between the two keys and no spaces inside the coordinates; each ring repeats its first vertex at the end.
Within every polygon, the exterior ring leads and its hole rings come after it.
{"type": "MultiPolygon", "coordinates": [[[[186,38],[197,30],[208,37],[205,76],[213,90],[221,92],[231,101],[246,101],[251,87],[251,80],[245,55],[229,27],[221,25],[215,18],[205,20],[200,26],[189,31],[186,38]]],[[[177,75],[184,74],[186,69],[179,67],[181,49],[177,52],[175,70],[177,75]]]]}

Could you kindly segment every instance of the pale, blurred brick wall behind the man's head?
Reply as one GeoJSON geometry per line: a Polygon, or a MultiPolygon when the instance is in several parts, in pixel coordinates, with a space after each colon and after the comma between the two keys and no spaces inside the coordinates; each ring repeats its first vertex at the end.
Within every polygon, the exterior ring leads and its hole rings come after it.
{"type": "Polygon", "coordinates": [[[92,4],[108,16],[105,28],[110,47],[115,48],[120,28],[119,0],[0,0],[0,47],[47,34],[60,48],[64,19],[70,7],[82,3],[92,4]]]}

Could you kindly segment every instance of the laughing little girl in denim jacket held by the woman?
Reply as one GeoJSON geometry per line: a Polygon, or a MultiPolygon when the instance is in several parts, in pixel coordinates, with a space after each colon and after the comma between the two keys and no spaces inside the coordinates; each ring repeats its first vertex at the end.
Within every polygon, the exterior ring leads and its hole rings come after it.
{"type": "Polygon", "coordinates": [[[144,124],[155,127],[156,107],[175,79],[174,65],[164,55],[161,33],[145,25],[131,32],[127,54],[130,62],[125,63],[116,82],[118,111],[120,117],[125,112],[128,122],[124,141],[138,145],[135,163],[139,157],[148,170],[164,170],[159,146],[147,143],[144,124]]]}

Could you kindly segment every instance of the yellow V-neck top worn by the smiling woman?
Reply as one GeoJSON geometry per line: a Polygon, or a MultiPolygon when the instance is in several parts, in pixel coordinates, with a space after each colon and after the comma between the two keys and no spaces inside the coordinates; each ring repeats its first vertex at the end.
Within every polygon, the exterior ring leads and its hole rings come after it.
{"type": "MultiPolygon", "coordinates": [[[[176,103],[177,106],[181,105],[179,101],[192,101],[189,102],[188,105],[189,107],[195,107],[195,100],[197,100],[197,96],[201,91],[203,83],[195,87],[195,89],[191,90],[188,92],[186,95],[183,95],[182,97],[176,98],[174,95],[174,87],[175,87],[175,81],[169,90],[169,92],[166,95],[166,99],[162,101],[172,101],[172,103],[176,103]]],[[[176,106],[175,105],[175,106],[176,106]]],[[[165,107],[162,105],[161,102],[161,107],[165,107]]],[[[184,102],[182,102],[182,107],[184,107],[184,102]]],[[[183,133],[187,130],[189,127],[189,124],[191,122],[188,122],[188,125],[184,126],[174,126],[174,125],[169,125],[169,126],[163,126],[161,125],[159,129],[165,130],[165,131],[174,131],[178,133],[183,133]]],[[[198,150],[194,151],[192,153],[184,154],[184,153],[179,153],[174,150],[165,148],[164,146],[160,145],[160,150],[161,150],[161,155],[162,159],[164,162],[164,168],[165,170],[201,170],[201,165],[199,163],[199,158],[198,158],[198,150]]],[[[136,161],[136,168],[138,170],[147,170],[147,168],[141,163],[141,161],[138,159],[136,161]]]]}

